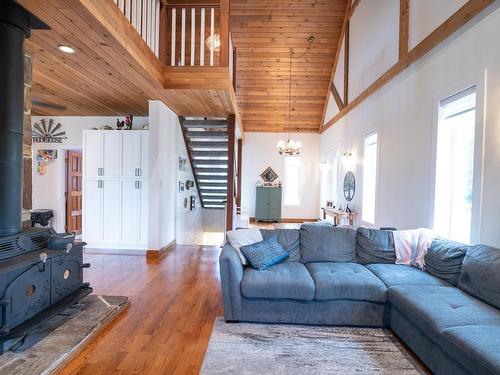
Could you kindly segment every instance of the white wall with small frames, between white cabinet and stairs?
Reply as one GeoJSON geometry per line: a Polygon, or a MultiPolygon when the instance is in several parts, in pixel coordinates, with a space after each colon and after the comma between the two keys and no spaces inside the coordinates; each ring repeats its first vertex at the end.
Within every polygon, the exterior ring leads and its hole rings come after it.
{"type": "Polygon", "coordinates": [[[174,240],[187,243],[202,230],[199,199],[197,209],[189,210],[192,188],[179,192],[179,180],[192,179],[190,167],[178,171],[179,156],[186,154],[177,115],[163,102],[149,102],[149,249],[161,249],[174,240]],[[184,197],[188,207],[184,208],[184,197]]]}

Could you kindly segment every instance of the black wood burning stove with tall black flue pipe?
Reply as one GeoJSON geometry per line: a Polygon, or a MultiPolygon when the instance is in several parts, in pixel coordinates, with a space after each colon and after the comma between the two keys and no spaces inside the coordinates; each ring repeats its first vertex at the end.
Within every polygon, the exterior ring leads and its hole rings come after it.
{"type": "Polygon", "coordinates": [[[0,1],[0,354],[92,291],[83,282],[85,243],[53,250],[53,229],[21,232],[23,47],[33,28],[47,26],[15,1],[0,1]]]}

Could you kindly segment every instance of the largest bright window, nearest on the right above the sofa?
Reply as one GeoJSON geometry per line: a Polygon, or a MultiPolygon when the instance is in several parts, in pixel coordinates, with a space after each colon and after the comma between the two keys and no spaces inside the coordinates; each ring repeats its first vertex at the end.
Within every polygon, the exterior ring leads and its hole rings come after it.
{"type": "Polygon", "coordinates": [[[470,242],[476,88],[439,103],[436,149],[434,230],[447,238],[470,242]]]}

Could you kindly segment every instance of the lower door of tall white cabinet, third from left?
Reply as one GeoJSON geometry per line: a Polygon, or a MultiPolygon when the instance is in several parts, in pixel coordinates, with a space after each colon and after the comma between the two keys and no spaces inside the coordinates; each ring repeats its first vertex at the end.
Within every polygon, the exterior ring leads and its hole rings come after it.
{"type": "Polygon", "coordinates": [[[122,193],[122,242],[139,243],[140,190],[136,180],[124,180],[122,193]]]}

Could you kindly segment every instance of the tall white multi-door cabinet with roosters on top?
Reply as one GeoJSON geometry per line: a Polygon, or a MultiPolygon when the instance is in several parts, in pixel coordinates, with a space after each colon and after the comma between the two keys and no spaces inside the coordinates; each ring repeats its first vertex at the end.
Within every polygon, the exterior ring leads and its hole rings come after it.
{"type": "Polygon", "coordinates": [[[148,132],[85,130],[83,240],[89,248],[147,249],[148,132]]]}

